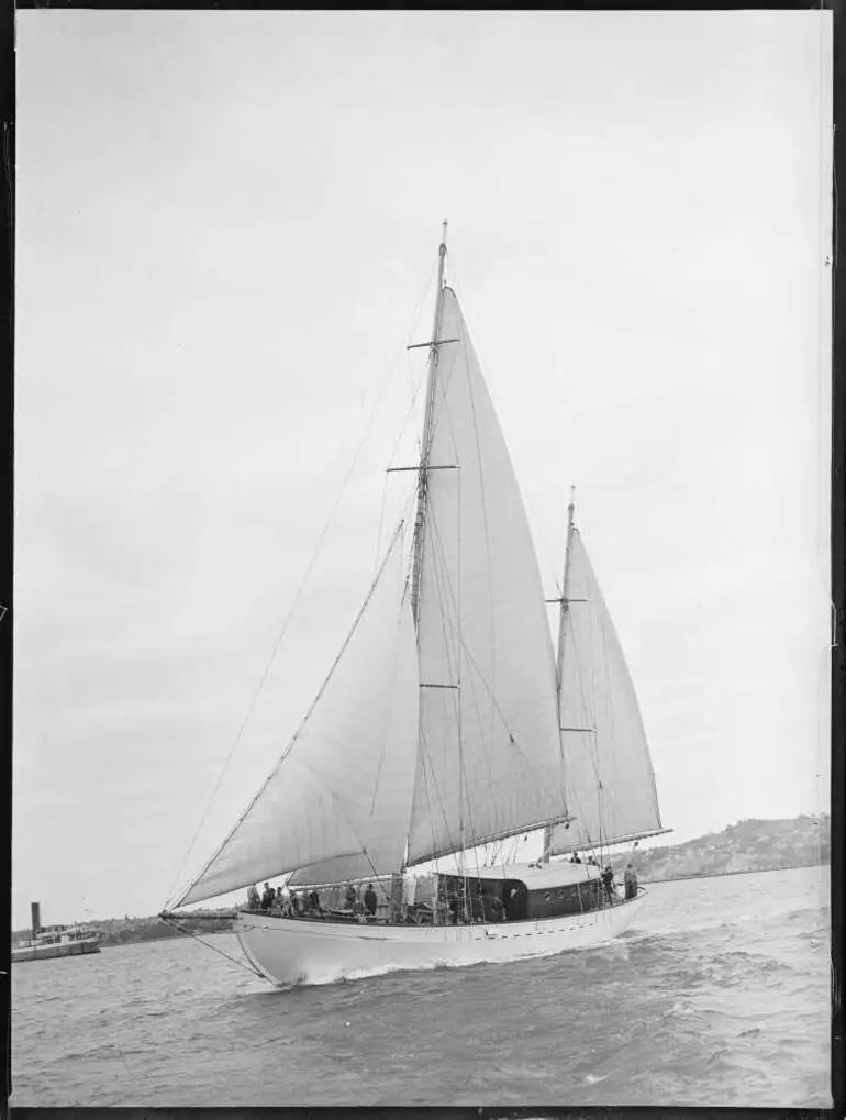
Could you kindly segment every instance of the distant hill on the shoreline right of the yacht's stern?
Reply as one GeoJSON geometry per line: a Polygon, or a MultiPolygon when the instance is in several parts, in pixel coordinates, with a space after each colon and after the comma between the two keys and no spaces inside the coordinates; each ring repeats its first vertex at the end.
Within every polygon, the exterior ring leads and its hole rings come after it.
{"type": "Polygon", "coordinates": [[[661,848],[636,849],[614,859],[614,869],[631,859],[641,883],[688,879],[742,871],[772,871],[829,862],[830,820],[796,816],[789,820],[740,821],[722,832],[661,848]]]}

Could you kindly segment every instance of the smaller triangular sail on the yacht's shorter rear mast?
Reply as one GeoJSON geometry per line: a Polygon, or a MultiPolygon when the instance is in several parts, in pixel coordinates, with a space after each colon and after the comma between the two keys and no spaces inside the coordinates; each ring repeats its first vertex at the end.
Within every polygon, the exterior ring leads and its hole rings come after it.
{"type": "Polygon", "coordinates": [[[655,774],[634,685],[582,538],[570,544],[561,725],[567,805],[552,852],[661,831],[655,774]]]}

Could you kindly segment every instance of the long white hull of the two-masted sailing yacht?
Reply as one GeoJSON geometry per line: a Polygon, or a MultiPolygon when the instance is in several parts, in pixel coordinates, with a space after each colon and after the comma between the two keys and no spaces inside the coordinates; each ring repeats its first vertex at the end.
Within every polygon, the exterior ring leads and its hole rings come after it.
{"type": "Polygon", "coordinates": [[[326,983],[601,945],[623,932],[642,898],[588,914],[491,925],[358,925],[241,914],[237,935],[247,959],[273,983],[326,983]]]}

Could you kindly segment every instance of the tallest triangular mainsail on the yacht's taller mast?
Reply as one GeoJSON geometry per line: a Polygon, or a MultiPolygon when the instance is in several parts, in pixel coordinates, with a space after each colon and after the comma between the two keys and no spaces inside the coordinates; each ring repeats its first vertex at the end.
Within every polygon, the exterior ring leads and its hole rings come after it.
{"type": "Polygon", "coordinates": [[[565,813],[555,661],[517,479],[443,290],[420,569],[420,752],[408,862],[565,813]]]}

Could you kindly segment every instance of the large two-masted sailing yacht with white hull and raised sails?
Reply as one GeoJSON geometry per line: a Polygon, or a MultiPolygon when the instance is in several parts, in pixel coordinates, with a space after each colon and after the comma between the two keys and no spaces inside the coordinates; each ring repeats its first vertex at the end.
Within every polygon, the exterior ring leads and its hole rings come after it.
{"type": "Polygon", "coordinates": [[[281,876],[325,897],[339,898],[344,884],[379,887],[375,916],[340,904],[298,916],[242,911],[244,954],[276,984],[605,942],[629,925],[643,892],[619,899],[586,853],[666,831],[573,502],[563,587],[551,600],[445,256],[444,222],[433,332],[422,344],[421,456],[396,468],[416,473],[413,523],[395,530],[271,774],[163,912],[281,876]],[[543,836],[534,862],[478,855],[529,832],[543,836]],[[555,858],[580,851],[581,862],[555,858]],[[446,857],[455,862],[442,874],[446,857]],[[421,868],[429,875],[415,875],[421,868]]]}

